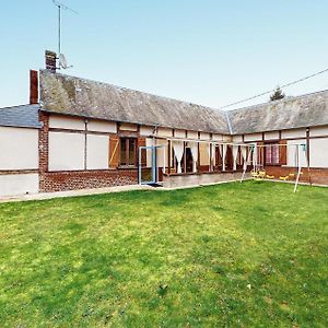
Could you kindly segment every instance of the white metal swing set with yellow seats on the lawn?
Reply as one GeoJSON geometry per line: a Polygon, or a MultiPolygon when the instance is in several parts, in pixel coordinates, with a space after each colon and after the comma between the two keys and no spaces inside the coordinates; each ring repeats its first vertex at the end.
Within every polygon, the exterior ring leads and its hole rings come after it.
{"type": "MultiPolygon", "coordinates": [[[[266,151],[266,148],[272,147],[271,144],[257,144],[251,143],[248,147],[248,155],[246,160],[246,164],[244,165],[244,171],[242,175],[241,183],[244,181],[247,167],[251,166],[250,175],[254,180],[256,181],[262,181],[262,180],[281,180],[281,181],[294,181],[294,192],[297,191],[297,186],[300,183],[300,178],[303,175],[302,167],[307,167],[308,173],[308,179],[309,185],[311,183],[311,172],[309,172],[309,163],[307,157],[307,149],[305,143],[291,143],[291,144],[276,144],[276,147],[293,147],[294,148],[294,165],[293,167],[296,168],[296,171],[293,171],[289,173],[285,176],[274,176],[270,175],[266,171],[266,163],[265,163],[265,156],[263,152],[266,151]],[[305,162],[305,166],[302,165],[305,162]]],[[[280,152],[279,152],[280,153],[280,152]]]]}

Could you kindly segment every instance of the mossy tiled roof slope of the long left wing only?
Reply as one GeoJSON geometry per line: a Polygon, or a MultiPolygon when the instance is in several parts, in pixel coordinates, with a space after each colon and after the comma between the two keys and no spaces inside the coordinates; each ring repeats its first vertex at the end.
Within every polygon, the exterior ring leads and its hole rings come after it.
{"type": "Polygon", "coordinates": [[[46,70],[40,105],[50,113],[229,134],[222,110],[46,70]]]}

